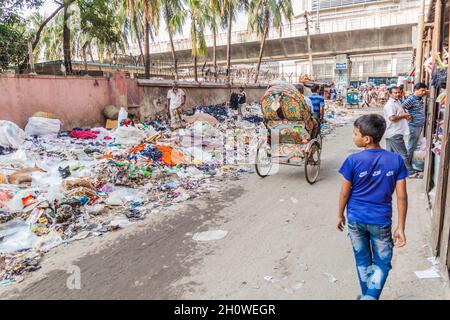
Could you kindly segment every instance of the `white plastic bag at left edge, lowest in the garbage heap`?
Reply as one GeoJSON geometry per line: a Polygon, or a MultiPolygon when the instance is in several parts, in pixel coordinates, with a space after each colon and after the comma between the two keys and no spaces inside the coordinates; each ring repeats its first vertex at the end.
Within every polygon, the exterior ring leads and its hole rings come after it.
{"type": "Polygon", "coordinates": [[[0,225],[0,253],[30,249],[38,239],[22,219],[0,225]]]}

